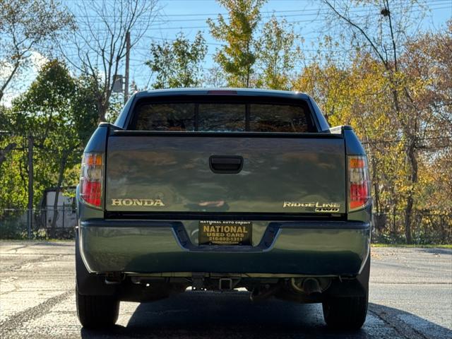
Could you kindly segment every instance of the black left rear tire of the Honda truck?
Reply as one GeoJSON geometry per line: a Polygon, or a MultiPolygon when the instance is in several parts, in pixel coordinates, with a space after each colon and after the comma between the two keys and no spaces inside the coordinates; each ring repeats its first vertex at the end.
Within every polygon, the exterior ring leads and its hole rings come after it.
{"type": "Polygon", "coordinates": [[[119,315],[119,300],[107,295],[81,295],[76,287],[78,320],[85,328],[114,326],[119,315]]]}

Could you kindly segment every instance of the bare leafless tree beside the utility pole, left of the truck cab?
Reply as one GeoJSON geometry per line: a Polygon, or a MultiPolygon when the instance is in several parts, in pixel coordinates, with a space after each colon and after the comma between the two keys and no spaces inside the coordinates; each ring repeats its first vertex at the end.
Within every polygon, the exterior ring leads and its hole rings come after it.
{"type": "Polygon", "coordinates": [[[157,16],[157,0],[91,0],[83,5],[72,38],[77,55],[69,54],[64,44],[61,50],[71,66],[96,84],[98,120],[106,121],[114,78],[126,57],[127,36],[133,49],[157,16]]]}

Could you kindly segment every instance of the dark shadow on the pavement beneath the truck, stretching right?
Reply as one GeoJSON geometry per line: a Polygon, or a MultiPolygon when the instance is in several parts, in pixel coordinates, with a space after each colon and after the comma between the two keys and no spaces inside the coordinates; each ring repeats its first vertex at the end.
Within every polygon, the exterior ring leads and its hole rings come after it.
{"type": "Polygon", "coordinates": [[[251,303],[247,292],[185,292],[138,305],[125,327],[81,330],[82,338],[423,338],[423,335],[452,338],[452,331],[378,304],[369,304],[367,321],[361,330],[333,331],[323,322],[320,304],[276,299],[251,303]]]}

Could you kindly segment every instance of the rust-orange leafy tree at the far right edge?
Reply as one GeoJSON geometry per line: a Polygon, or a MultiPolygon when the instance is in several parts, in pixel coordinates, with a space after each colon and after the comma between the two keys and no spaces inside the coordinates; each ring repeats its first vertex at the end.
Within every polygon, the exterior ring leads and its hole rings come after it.
{"type": "Polygon", "coordinates": [[[420,109],[422,138],[417,206],[452,213],[452,20],[438,32],[408,41],[400,64],[410,96],[420,109]]]}

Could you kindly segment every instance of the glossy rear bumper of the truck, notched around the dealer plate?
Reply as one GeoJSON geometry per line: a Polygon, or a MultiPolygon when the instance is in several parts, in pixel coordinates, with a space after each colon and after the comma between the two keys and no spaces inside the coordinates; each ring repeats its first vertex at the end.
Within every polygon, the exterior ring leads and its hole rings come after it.
{"type": "Polygon", "coordinates": [[[86,220],[79,227],[91,273],[357,275],[369,256],[367,222],[269,222],[258,246],[196,246],[182,222],[86,220]]]}

